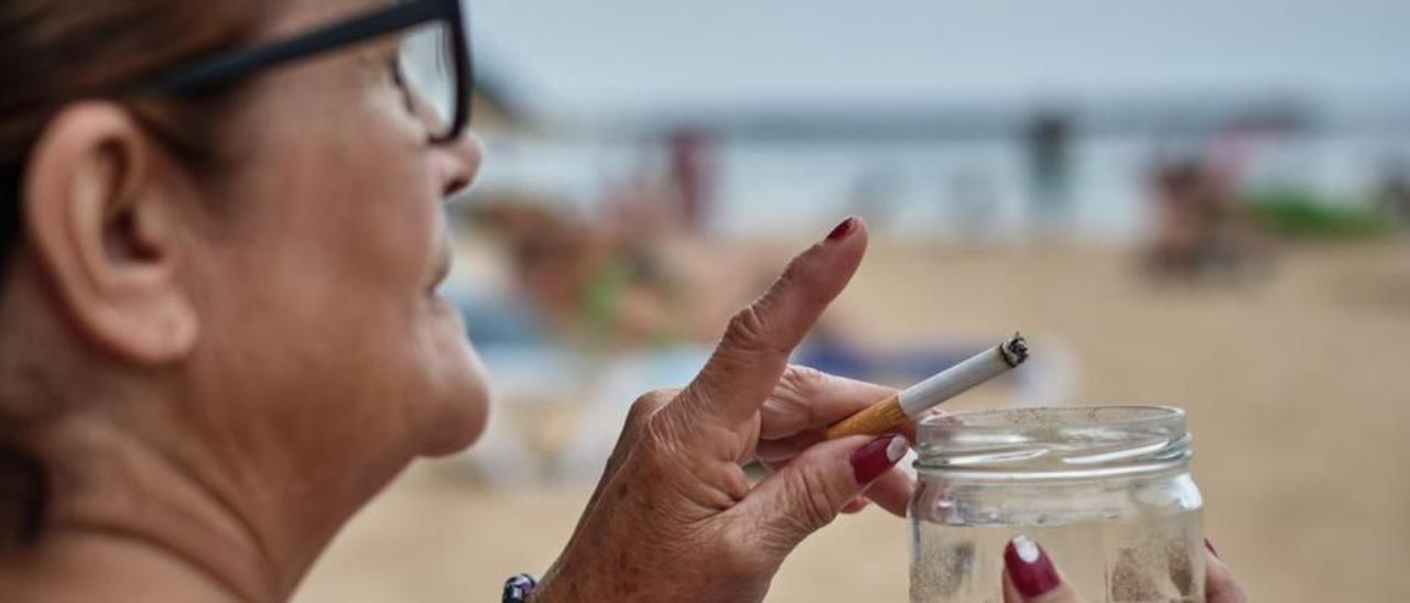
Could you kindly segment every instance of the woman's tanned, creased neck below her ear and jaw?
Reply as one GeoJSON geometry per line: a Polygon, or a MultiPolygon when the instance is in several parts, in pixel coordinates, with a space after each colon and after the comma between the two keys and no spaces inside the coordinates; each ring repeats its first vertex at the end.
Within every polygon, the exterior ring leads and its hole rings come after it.
{"type": "Polygon", "coordinates": [[[0,554],[0,600],[269,602],[288,595],[248,517],[192,468],[100,423],[48,430],[37,542],[0,554]]]}

